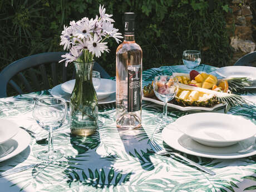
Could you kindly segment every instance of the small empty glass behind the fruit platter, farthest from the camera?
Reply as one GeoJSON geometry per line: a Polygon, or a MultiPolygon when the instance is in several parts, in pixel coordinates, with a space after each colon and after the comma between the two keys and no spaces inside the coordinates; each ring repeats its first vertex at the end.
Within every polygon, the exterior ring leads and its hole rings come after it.
{"type": "Polygon", "coordinates": [[[201,62],[201,53],[196,50],[183,51],[182,60],[186,68],[192,69],[198,67],[201,62]]]}

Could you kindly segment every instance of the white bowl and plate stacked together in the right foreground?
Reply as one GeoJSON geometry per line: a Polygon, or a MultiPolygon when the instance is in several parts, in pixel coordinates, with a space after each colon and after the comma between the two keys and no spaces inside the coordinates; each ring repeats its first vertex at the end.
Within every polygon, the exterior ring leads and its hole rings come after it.
{"type": "Polygon", "coordinates": [[[174,149],[218,159],[255,155],[255,134],[250,120],[214,112],[182,116],[162,131],[163,140],[174,149]]]}

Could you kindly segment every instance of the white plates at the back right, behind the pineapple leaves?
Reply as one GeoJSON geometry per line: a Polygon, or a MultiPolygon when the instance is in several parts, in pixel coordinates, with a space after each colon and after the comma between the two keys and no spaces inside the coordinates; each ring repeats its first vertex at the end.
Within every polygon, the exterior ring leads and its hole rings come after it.
{"type": "Polygon", "coordinates": [[[249,77],[252,85],[245,88],[256,88],[256,67],[228,66],[218,68],[215,72],[224,78],[249,77]]]}

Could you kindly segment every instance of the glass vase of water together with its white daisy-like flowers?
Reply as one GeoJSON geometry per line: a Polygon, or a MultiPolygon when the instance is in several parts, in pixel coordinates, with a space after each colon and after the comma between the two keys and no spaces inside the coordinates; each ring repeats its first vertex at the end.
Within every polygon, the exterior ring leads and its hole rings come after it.
{"type": "Polygon", "coordinates": [[[64,50],[70,52],[62,55],[65,65],[73,62],[76,68],[76,83],[70,98],[71,133],[80,136],[93,134],[98,127],[98,101],[92,83],[94,57],[100,57],[104,51],[109,52],[107,38],[114,38],[117,43],[122,38],[119,29],[114,28],[111,14],[105,13],[104,6],[99,7],[100,16],[95,19],[87,17],[70,26],[64,26],[61,43],[64,50]]]}

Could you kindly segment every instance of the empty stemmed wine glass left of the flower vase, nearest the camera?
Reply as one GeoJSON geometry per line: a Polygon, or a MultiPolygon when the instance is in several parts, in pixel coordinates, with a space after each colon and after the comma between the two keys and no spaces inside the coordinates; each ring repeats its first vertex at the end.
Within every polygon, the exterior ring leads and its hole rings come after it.
{"type": "Polygon", "coordinates": [[[52,132],[62,126],[67,115],[67,104],[64,99],[44,97],[35,101],[33,117],[38,125],[49,132],[48,150],[38,153],[38,159],[57,160],[63,156],[61,150],[53,150],[52,132]]]}

